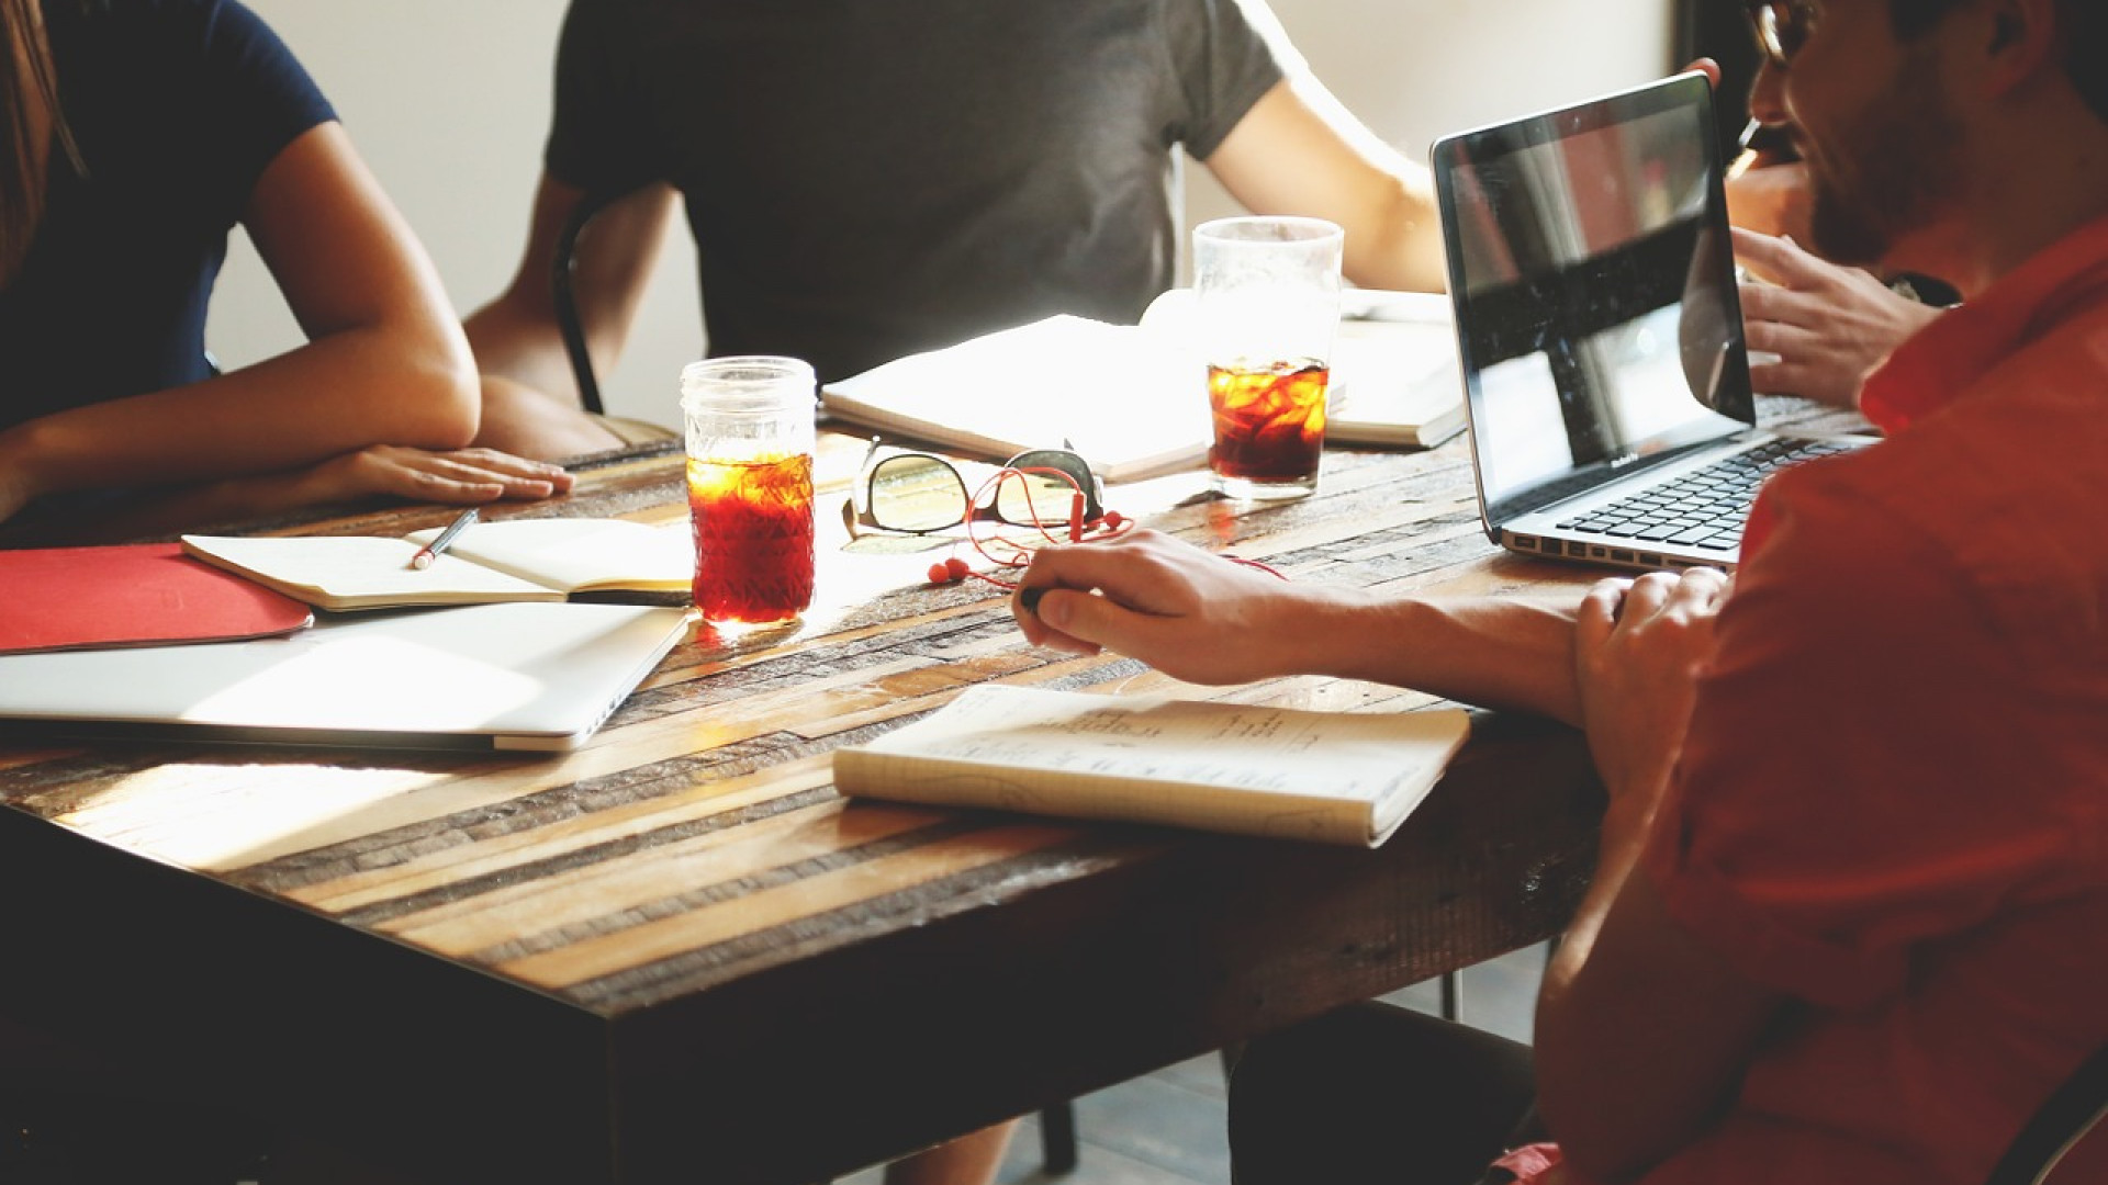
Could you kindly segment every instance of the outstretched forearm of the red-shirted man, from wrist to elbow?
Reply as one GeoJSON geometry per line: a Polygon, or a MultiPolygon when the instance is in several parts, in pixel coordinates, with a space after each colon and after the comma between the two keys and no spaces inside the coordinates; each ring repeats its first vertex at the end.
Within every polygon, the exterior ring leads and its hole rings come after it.
{"type": "Polygon", "coordinates": [[[1324,675],[1577,723],[1575,601],[1579,592],[1379,599],[1339,590],[1313,605],[1305,637],[1324,675]]]}

